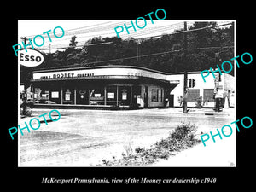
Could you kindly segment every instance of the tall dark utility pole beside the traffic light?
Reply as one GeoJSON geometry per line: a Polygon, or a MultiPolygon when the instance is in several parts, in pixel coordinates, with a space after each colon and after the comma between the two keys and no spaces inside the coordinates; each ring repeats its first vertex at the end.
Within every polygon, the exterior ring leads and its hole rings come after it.
{"type": "Polygon", "coordinates": [[[187,22],[184,22],[184,85],[183,85],[183,113],[188,113],[187,108],[187,81],[188,81],[188,72],[187,72],[187,55],[188,55],[188,38],[187,38],[187,22]]]}

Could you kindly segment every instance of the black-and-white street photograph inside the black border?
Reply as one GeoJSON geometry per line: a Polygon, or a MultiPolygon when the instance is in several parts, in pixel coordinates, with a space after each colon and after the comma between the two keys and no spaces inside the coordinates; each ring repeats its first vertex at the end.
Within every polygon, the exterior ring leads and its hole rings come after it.
{"type": "Polygon", "coordinates": [[[236,166],[236,20],[157,13],[18,20],[19,166],[236,166]]]}

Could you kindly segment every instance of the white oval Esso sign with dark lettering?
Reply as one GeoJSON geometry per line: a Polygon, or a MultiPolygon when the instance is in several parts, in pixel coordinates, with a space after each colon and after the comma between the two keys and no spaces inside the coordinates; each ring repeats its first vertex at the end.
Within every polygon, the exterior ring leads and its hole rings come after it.
{"type": "Polygon", "coordinates": [[[18,61],[20,65],[26,67],[36,67],[44,61],[44,55],[42,55],[38,50],[33,49],[23,49],[19,51],[18,61]]]}

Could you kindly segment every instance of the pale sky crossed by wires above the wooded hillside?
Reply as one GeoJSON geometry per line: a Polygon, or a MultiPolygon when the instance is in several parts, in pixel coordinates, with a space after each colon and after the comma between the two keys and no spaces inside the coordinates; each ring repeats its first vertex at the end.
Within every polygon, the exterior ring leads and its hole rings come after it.
{"type": "MultiPolygon", "coordinates": [[[[195,20],[187,20],[188,27],[192,26],[195,20]]],[[[208,21],[208,20],[204,20],[208,21]]],[[[136,26],[136,21],[132,20],[136,26]]],[[[67,47],[71,37],[76,35],[76,41],[78,41],[77,46],[84,45],[86,41],[90,38],[99,37],[116,37],[117,34],[114,28],[117,26],[123,26],[124,31],[119,33],[122,39],[125,38],[145,38],[156,35],[161,35],[163,33],[172,33],[174,29],[182,29],[184,20],[146,20],[146,26],[140,29],[136,26],[136,32],[131,27],[129,28],[130,34],[125,30],[124,24],[126,26],[131,26],[131,20],[18,20],[18,44],[23,41],[20,37],[26,37],[33,39],[37,35],[43,35],[44,32],[49,32],[51,35],[52,42],[49,42],[49,38],[45,34],[44,45],[41,47],[35,46],[42,52],[51,53],[55,52],[57,49],[67,47]],[[53,30],[56,26],[61,26],[65,32],[62,38],[55,38],[53,36],[53,30]]],[[[142,19],[138,20],[138,26],[144,26],[145,23],[142,19]]],[[[117,30],[119,31],[121,27],[117,30]]],[[[60,28],[56,32],[61,32],[60,28]]],[[[43,44],[43,39],[36,38],[37,44],[43,44]]],[[[28,42],[27,42],[28,44],[28,42]]]]}

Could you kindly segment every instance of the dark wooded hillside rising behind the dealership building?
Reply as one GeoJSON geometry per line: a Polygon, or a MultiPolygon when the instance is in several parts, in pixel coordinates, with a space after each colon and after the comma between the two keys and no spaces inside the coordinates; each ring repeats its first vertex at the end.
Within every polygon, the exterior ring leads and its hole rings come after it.
{"type": "Polygon", "coordinates": [[[233,25],[224,28],[218,27],[216,22],[195,22],[189,30],[191,30],[187,33],[189,64],[184,62],[184,36],[183,29],[180,29],[171,34],[163,34],[160,38],[142,39],[139,43],[134,38],[124,40],[117,37],[94,37],[85,42],[82,48],[76,47],[78,42],[76,36],[73,36],[67,49],[47,55],[49,61],[45,61],[45,66],[136,65],[163,72],[183,72],[185,69],[202,71],[216,67],[218,62],[233,57],[234,49],[225,48],[234,45],[233,25]],[[192,31],[194,29],[200,30],[192,31]],[[103,44],[108,42],[112,43],[103,44]],[[162,52],[167,53],[157,54],[162,52]],[[127,57],[133,58],[127,59],[127,57]]]}

